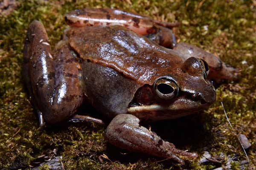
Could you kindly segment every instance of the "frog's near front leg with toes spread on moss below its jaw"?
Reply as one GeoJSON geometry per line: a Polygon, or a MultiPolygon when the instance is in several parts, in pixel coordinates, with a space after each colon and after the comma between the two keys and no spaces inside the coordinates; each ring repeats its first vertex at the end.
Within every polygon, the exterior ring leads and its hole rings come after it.
{"type": "Polygon", "coordinates": [[[108,125],[107,140],[122,149],[147,153],[163,158],[172,158],[180,164],[184,161],[177,155],[197,158],[197,153],[189,153],[175,148],[174,144],[165,142],[157,134],[139,124],[140,120],[131,114],[119,114],[108,125]]]}

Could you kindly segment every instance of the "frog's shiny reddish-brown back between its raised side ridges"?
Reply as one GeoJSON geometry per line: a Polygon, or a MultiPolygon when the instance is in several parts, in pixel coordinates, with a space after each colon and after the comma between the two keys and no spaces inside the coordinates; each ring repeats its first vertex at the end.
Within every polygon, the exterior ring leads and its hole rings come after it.
{"type": "Polygon", "coordinates": [[[175,51],[121,26],[70,28],[67,37],[82,59],[113,68],[141,85],[152,84],[182,62],[175,51]]]}

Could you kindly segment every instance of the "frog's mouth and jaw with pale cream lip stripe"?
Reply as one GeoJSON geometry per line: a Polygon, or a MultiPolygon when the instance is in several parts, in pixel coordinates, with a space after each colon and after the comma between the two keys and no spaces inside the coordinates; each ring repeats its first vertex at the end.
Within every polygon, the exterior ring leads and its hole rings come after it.
{"type": "Polygon", "coordinates": [[[193,100],[183,95],[169,103],[151,105],[131,105],[128,113],[140,119],[151,119],[153,121],[163,119],[176,119],[200,110],[208,108],[212,103],[193,100]]]}

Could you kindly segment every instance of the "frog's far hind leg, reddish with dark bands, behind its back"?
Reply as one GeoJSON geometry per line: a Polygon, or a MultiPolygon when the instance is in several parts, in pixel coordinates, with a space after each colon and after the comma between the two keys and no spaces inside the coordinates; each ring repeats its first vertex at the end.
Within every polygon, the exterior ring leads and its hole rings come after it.
{"type": "Polygon", "coordinates": [[[176,45],[173,28],[180,23],[168,23],[153,20],[138,14],[132,14],[111,8],[84,8],[71,11],[65,15],[67,24],[74,27],[118,25],[145,35],[158,44],[173,48],[176,45]]]}

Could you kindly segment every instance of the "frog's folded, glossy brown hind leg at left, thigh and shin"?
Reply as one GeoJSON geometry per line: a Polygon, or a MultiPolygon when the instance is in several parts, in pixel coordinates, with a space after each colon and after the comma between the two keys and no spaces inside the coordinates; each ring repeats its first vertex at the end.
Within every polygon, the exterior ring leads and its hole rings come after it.
{"type": "Polygon", "coordinates": [[[51,52],[42,23],[29,25],[24,46],[27,76],[32,87],[33,104],[49,123],[61,122],[76,112],[83,94],[79,76],[79,62],[67,45],[51,52]]]}

